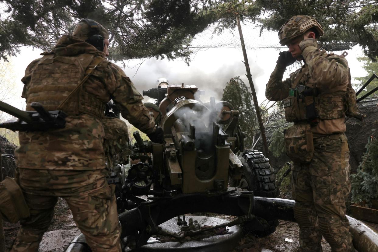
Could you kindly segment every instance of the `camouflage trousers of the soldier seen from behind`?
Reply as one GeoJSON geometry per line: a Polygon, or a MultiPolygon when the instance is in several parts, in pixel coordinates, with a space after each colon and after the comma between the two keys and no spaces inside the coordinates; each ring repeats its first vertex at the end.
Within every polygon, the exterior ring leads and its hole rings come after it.
{"type": "Polygon", "coordinates": [[[43,233],[54,215],[58,197],[67,201],[77,227],[92,251],[121,251],[120,226],[114,190],[107,171],[19,169],[19,184],[31,215],[21,228],[11,251],[37,252],[43,233]]]}

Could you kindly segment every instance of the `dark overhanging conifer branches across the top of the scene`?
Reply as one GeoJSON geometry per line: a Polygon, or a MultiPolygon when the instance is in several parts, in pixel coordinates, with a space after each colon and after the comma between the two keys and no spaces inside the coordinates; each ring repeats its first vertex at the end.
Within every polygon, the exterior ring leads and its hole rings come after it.
{"type": "Polygon", "coordinates": [[[291,16],[315,17],[324,27],[328,51],[359,44],[378,56],[378,0],[1,0],[0,57],[23,45],[51,49],[62,34],[84,18],[110,33],[110,59],[158,57],[190,62],[194,36],[216,23],[215,32],[234,29],[235,17],[276,30],[291,16]]]}

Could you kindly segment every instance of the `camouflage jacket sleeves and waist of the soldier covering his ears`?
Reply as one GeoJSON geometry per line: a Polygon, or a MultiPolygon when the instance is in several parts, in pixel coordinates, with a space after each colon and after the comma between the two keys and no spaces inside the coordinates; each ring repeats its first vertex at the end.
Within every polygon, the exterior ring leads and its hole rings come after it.
{"type": "MultiPolygon", "coordinates": [[[[290,73],[290,77],[282,80],[285,66],[276,65],[266,84],[265,96],[268,100],[280,101],[289,96],[289,88],[296,80],[298,85],[316,88],[319,94],[332,94],[346,91],[349,83],[349,67],[347,60],[333,53],[320,51],[316,43],[302,41],[304,65],[290,73]],[[303,72],[303,73],[302,73],[303,72]]],[[[294,88],[294,87],[293,87],[294,88]]],[[[329,135],[336,132],[345,132],[345,118],[321,120],[318,125],[311,127],[317,134],[329,135]]]]}

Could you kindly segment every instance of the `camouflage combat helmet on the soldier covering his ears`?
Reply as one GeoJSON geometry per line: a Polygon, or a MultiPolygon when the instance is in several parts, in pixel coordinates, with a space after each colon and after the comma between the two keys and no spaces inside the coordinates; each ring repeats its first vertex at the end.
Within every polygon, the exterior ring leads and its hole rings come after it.
{"type": "Polygon", "coordinates": [[[304,34],[308,29],[315,28],[319,37],[323,36],[324,31],[318,21],[307,15],[295,15],[283,24],[278,31],[281,45],[286,45],[294,37],[304,34]]]}

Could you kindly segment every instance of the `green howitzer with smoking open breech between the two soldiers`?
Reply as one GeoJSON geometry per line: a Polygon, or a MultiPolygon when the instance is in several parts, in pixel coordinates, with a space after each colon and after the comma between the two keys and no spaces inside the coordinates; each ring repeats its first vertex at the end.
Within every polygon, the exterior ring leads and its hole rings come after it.
{"type": "MultiPolygon", "coordinates": [[[[277,196],[274,169],[261,152],[244,150],[239,111],[214,98],[196,100],[194,85],[168,85],[163,99],[161,91],[149,90],[157,100],[146,107],[160,118],[165,143],[143,141],[133,133],[130,159],[139,162],[127,171],[117,198],[125,244],[139,248],[159,232],[159,224],[193,212],[240,216],[245,229],[259,236],[274,232],[279,216],[265,213],[254,197],[277,196]],[[147,200],[139,198],[143,195],[149,195],[147,200]]],[[[73,241],[75,246],[80,242],[73,241]]]]}

